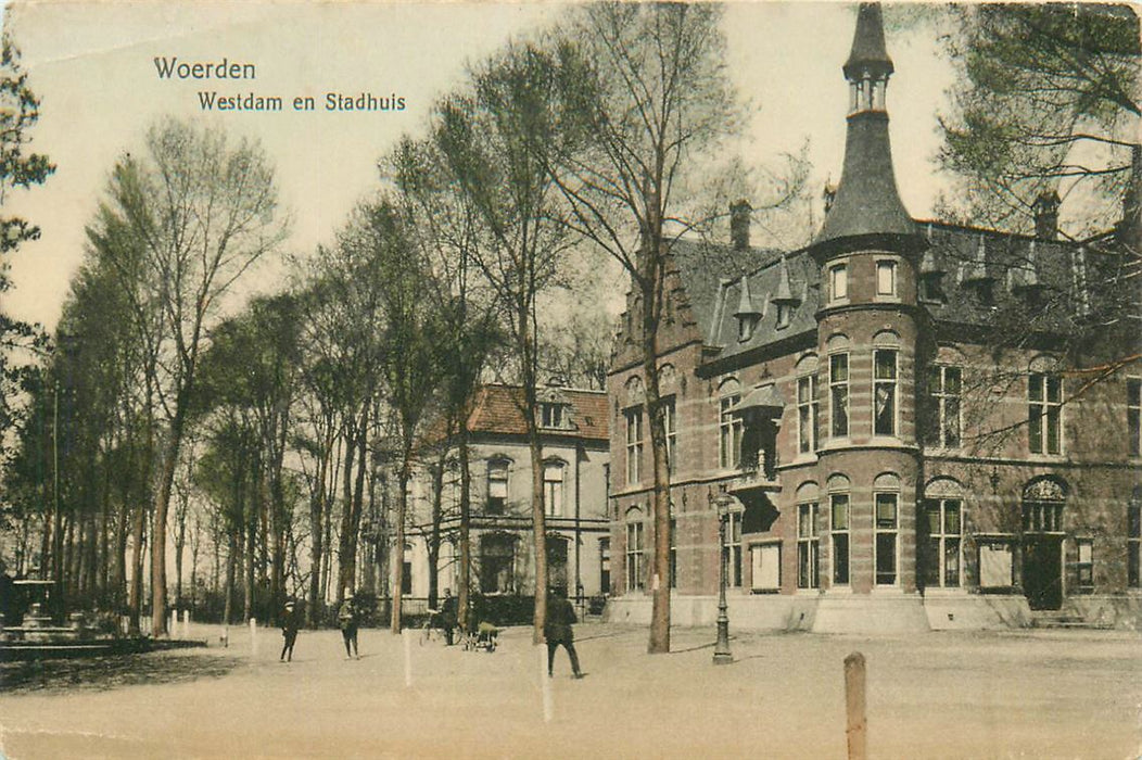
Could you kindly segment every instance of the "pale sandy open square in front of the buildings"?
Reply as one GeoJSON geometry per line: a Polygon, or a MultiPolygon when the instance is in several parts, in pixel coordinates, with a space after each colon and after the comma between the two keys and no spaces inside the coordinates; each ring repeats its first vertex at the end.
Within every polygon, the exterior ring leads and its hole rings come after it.
{"type": "Polygon", "coordinates": [[[646,655],[644,629],[577,626],[587,678],[556,656],[552,720],[530,630],[492,654],[362,630],[281,637],[192,626],[210,648],[134,661],[3,665],[0,751],[59,757],[843,758],[843,661],[868,663],[871,758],[1137,758],[1142,639],[1115,631],[899,638],[735,632],[710,664],[711,629],[646,655]]]}

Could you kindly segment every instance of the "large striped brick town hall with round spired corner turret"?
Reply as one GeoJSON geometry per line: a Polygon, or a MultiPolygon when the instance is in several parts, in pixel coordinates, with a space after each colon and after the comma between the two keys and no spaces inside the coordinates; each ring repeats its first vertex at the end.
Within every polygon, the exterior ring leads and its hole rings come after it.
{"type": "Polygon", "coordinates": [[[735,626],[1060,615],[1137,626],[1142,366],[1099,369],[1137,355],[1136,335],[1073,345],[1128,225],[1060,240],[1052,194],[1035,235],[912,219],[892,167],[877,5],[861,6],[843,71],[843,176],[813,242],[751,247],[739,203],[729,246],[669,251],[668,578],[650,568],[649,418],[628,299],[608,391],[611,619],[648,621],[658,581],[674,589],[675,623],[711,622],[722,557],[735,626]]]}

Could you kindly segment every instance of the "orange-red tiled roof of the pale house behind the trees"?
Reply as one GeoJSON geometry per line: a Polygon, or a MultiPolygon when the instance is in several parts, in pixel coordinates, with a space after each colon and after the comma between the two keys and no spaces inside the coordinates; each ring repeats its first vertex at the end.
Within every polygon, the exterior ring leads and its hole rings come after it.
{"type": "MultiPolygon", "coordinates": [[[[571,405],[571,419],[565,429],[541,427],[541,433],[604,442],[610,439],[604,391],[540,389],[540,395],[549,390],[571,405]]],[[[472,414],[468,416],[468,430],[473,433],[526,434],[522,405],[523,389],[518,385],[484,385],[476,392],[472,414]]]]}

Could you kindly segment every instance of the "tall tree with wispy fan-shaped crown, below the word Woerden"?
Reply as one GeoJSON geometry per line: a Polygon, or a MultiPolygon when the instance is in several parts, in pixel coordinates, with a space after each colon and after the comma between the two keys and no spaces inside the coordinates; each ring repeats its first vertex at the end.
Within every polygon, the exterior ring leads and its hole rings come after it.
{"type": "Polygon", "coordinates": [[[158,282],[163,325],[156,390],[164,431],[151,542],[153,633],[161,635],[167,512],[199,358],[234,283],[275,248],[284,225],[275,219],[276,185],[260,147],[248,141],[231,145],[217,129],[171,119],[151,128],[140,158],[120,161],[110,194],[108,213],[137,238],[158,282]]]}

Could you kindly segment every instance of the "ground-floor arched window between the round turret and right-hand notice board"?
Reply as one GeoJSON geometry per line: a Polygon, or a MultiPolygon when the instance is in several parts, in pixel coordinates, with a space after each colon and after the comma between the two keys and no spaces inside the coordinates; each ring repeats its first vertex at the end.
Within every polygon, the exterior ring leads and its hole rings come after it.
{"type": "Polygon", "coordinates": [[[958,589],[960,585],[963,493],[959,482],[951,478],[935,478],[924,488],[917,547],[924,587],[958,589]]]}

